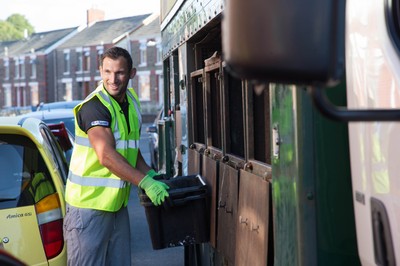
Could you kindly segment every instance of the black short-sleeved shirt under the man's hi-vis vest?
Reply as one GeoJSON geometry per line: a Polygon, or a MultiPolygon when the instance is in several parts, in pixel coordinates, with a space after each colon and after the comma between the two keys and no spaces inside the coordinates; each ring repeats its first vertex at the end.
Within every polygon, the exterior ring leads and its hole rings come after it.
{"type": "MultiPolygon", "coordinates": [[[[124,113],[126,121],[129,121],[129,103],[127,100],[124,103],[119,103],[121,110],[119,112],[124,113]]],[[[87,131],[95,126],[111,127],[111,114],[107,107],[101,103],[99,98],[93,97],[88,102],[84,103],[79,109],[78,115],[78,126],[81,130],[87,133],[87,131]]],[[[129,128],[129,122],[128,130],[129,128]]]]}

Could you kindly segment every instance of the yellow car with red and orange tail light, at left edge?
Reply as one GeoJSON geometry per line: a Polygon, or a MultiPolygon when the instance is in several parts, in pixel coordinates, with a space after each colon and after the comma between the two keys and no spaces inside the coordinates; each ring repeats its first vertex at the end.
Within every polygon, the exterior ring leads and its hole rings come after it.
{"type": "Polygon", "coordinates": [[[27,265],[66,265],[68,165],[37,118],[0,117],[0,248],[27,265]]]}

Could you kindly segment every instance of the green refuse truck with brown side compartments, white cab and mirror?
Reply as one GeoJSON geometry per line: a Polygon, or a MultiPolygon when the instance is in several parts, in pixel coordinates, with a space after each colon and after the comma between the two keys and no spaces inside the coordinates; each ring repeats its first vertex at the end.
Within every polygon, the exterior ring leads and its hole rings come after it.
{"type": "Polygon", "coordinates": [[[160,4],[159,169],[209,189],[185,263],[399,264],[400,1],[160,4]]]}

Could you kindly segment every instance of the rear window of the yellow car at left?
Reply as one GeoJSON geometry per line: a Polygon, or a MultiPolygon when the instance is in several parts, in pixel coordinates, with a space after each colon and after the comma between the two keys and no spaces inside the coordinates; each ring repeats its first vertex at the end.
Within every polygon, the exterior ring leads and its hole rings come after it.
{"type": "Polygon", "coordinates": [[[36,145],[22,135],[0,134],[0,209],[31,205],[55,191],[36,145]]]}

